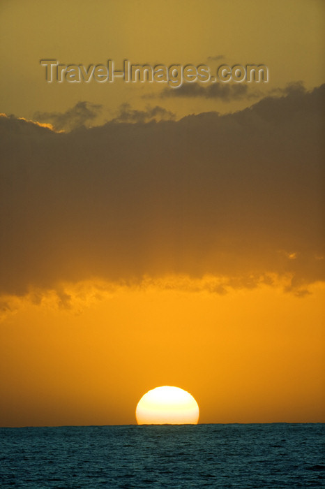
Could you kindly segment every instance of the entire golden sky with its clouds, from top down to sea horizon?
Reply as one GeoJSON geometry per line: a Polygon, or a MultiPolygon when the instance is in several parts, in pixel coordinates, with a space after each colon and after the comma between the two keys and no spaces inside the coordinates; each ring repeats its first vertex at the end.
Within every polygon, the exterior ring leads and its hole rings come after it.
{"type": "Polygon", "coordinates": [[[0,425],[324,422],[324,3],[0,1],[0,425]],[[264,65],[267,82],[47,82],[264,65]]]}

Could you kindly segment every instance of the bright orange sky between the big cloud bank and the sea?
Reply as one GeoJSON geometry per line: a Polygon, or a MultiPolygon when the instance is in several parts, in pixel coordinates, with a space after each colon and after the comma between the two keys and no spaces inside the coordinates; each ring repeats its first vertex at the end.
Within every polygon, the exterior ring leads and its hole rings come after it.
{"type": "Polygon", "coordinates": [[[324,286],[98,295],[25,301],[7,320],[3,425],[134,423],[139,397],[165,384],[195,396],[201,423],[322,420],[324,286]]]}

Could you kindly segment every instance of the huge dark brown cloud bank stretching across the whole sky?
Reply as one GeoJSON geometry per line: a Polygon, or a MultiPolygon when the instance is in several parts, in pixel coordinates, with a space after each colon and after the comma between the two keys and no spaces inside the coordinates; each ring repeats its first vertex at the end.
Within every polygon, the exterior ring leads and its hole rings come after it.
{"type": "Polygon", "coordinates": [[[226,277],[220,293],[324,280],[324,90],[70,133],[0,117],[0,293],[93,277],[226,277]]]}

